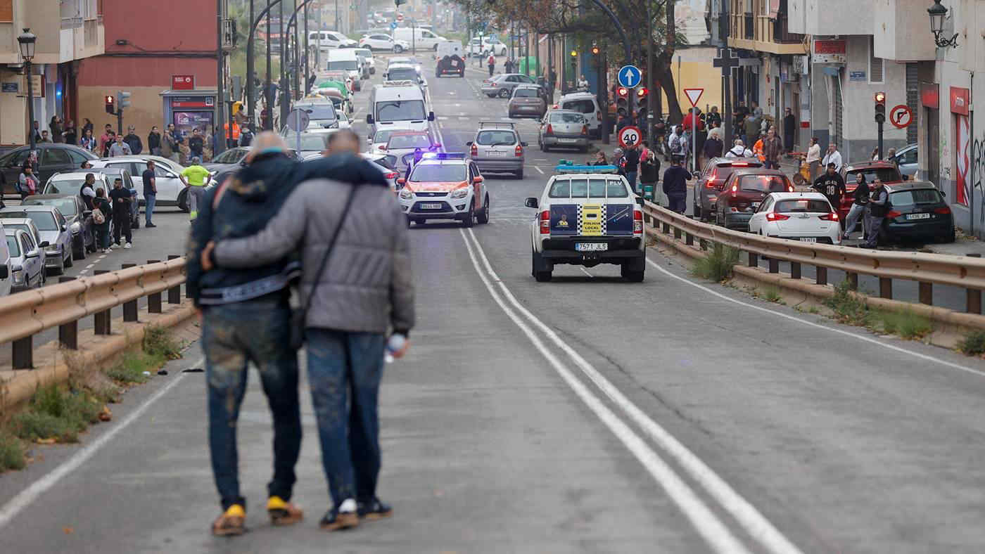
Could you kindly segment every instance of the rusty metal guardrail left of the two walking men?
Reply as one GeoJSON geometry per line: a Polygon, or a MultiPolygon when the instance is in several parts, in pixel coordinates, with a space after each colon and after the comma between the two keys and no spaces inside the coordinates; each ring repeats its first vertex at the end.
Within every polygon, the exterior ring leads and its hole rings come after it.
{"type": "Polygon", "coordinates": [[[181,302],[185,259],[168,256],[166,262],[123,264],[115,272],[97,271],[92,277],[61,277],[58,284],[42,286],[0,298],[0,342],[11,342],[14,369],[33,367],[33,336],[57,327],[63,348],[78,349],[79,320],[94,317],[97,335],[110,334],[109,310],[123,306],[123,321],[137,321],[137,302],[147,297],[148,312],[162,313],[167,303],[181,302]]]}

